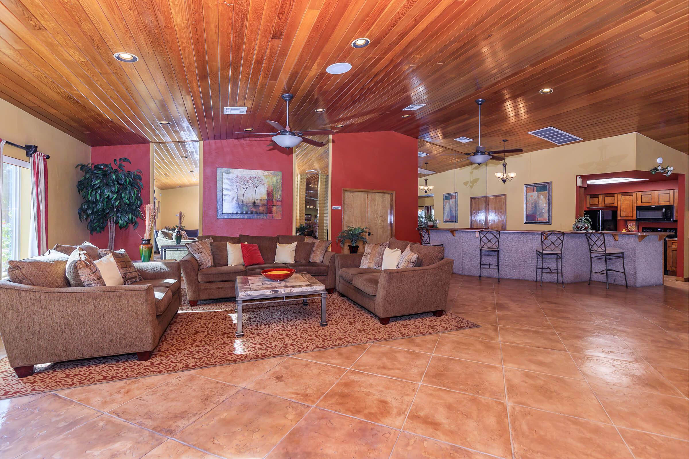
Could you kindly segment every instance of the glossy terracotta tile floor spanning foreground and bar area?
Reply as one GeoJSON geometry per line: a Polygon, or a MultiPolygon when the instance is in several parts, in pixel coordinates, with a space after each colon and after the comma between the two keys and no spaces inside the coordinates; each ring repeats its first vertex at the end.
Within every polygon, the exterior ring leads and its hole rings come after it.
{"type": "Polygon", "coordinates": [[[688,458],[688,288],[455,276],[482,328],[0,401],[0,457],[688,458]]]}

